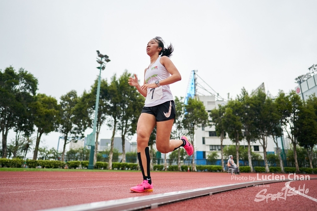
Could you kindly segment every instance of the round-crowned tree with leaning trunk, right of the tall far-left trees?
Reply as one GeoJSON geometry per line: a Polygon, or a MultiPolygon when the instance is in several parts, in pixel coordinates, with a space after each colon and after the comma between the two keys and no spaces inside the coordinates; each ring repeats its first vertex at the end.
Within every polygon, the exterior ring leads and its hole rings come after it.
{"type": "Polygon", "coordinates": [[[48,134],[58,128],[60,106],[54,97],[46,94],[37,94],[36,101],[32,104],[34,125],[37,127],[36,144],[33,160],[37,160],[38,150],[43,133],[48,134]]]}

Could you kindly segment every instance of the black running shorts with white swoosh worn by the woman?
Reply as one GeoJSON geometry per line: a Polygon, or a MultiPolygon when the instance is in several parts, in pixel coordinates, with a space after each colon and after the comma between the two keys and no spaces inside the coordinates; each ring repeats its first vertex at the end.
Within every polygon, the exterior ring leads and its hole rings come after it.
{"type": "Polygon", "coordinates": [[[155,116],[157,122],[175,119],[175,103],[173,100],[164,102],[157,106],[143,107],[141,113],[152,114],[155,116]]]}

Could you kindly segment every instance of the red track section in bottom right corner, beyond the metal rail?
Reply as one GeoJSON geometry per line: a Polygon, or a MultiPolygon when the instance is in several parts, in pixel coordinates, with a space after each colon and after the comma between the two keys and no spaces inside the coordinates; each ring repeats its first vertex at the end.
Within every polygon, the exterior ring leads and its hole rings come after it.
{"type": "Polygon", "coordinates": [[[286,184],[278,182],[222,192],[164,205],[153,211],[317,211],[316,179],[289,183],[289,187],[300,190],[304,196],[294,194],[286,184]]]}

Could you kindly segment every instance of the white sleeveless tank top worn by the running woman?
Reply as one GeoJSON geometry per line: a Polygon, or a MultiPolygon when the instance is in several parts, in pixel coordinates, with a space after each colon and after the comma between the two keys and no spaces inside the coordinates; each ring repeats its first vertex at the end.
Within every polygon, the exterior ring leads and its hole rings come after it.
{"type": "MultiPolygon", "coordinates": [[[[166,68],[160,63],[160,58],[161,57],[159,56],[156,62],[145,72],[144,78],[147,84],[152,84],[156,81],[161,81],[170,77],[170,74],[166,68]]],[[[169,89],[169,85],[160,85],[159,87],[148,88],[144,106],[152,107],[170,100],[174,100],[174,98],[172,92],[169,89]]]]}

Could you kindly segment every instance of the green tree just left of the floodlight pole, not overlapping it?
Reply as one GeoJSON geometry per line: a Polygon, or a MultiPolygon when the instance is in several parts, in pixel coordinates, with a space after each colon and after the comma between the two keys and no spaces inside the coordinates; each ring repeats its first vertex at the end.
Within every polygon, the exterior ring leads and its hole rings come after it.
{"type": "Polygon", "coordinates": [[[75,90],[71,90],[60,97],[60,126],[58,130],[64,136],[61,161],[64,161],[66,144],[71,140],[76,140],[77,137],[83,137],[83,131],[85,131],[87,126],[87,123],[83,122],[84,118],[82,116],[85,112],[81,113],[81,107],[76,107],[78,101],[75,90]],[[69,140],[70,136],[71,140],[69,140]]]}

